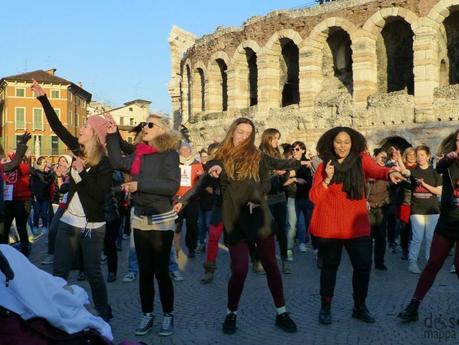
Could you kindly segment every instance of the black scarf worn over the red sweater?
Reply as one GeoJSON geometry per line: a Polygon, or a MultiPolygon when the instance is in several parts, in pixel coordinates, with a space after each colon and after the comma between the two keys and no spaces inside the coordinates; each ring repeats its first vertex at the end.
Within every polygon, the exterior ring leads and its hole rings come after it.
{"type": "Polygon", "coordinates": [[[335,155],[331,155],[325,157],[324,164],[327,164],[330,160],[335,167],[331,183],[342,183],[342,190],[349,199],[362,199],[365,195],[365,178],[360,155],[351,152],[341,163],[338,162],[335,155]]]}

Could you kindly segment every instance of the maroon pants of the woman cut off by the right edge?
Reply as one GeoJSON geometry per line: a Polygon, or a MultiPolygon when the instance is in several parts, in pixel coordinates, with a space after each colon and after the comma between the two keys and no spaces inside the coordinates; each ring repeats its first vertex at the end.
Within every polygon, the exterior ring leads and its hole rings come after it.
{"type": "Polygon", "coordinates": [[[443,266],[451,248],[456,242],[456,254],[454,257],[454,267],[456,267],[456,275],[459,278],[459,240],[455,241],[439,234],[434,234],[432,246],[430,247],[430,257],[424,271],[419,277],[418,285],[414,293],[414,298],[422,300],[427,292],[432,287],[432,284],[437,276],[438,271],[443,266]]]}

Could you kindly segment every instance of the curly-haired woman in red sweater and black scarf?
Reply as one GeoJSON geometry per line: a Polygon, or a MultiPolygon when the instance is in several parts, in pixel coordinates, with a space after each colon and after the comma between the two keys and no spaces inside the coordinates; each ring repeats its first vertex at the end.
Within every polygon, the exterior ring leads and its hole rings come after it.
{"type": "Polygon", "coordinates": [[[403,176],[377,165],[365,151],[365,138],[349,127],[332,128],[317,143],[323,163],[317,168],[310,190],[314,203],[310,232],[317,237],[319,255],[323,259],[319,323],[325,325],[331,323],[331,300],[343,247],[354,269],[352,317],[367,323],[375,321],[365,305],[372,252],[365,180],[390,178],[398,183],[403,176]]]}

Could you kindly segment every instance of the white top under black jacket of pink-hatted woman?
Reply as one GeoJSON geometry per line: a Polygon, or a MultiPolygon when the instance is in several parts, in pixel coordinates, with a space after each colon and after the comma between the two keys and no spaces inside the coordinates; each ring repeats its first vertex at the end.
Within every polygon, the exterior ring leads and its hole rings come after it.
{"type": "MultiPolygon", "coordinates": [[[[91,168],[88,168],[86,171],[89,171],[90,169],[91,168]]],[[[75,169],[71,169],[70,174],[72,175],[75,183],[78,184],[82,181],[80,174],[75,169]]],[[[73,197],[60,220],[68,225],[82,229],[98,229],[105,225],[105,222],[88,222],[86,220],[86,215],[84,214],[83,205],[81,204],[78,192],[73,194],[73,197]]]]}

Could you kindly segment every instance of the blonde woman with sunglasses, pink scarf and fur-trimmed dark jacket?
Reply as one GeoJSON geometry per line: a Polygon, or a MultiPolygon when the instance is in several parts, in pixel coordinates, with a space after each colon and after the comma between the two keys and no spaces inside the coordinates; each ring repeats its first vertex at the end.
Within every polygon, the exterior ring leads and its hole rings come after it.
{"type": "MultiPolygon", "coordinates": [[[[174,287],[169,276],[169,256],[177,215],[172,198],[180,186],[179,135],[171,132],[167,121],[150,115],[142,128],[142,142],[135,151],[122,156],[122,141],[116,124],[110,120],[107,148],[114,169],[129,172],[132,181],[122,189],[132,193],[134,217],[132,228],[139,265],[139,291],[143,317],[135,331],[138,336],[153,328],[154,278],[159,287],[163,322],[159,335],[174,331],[174,287]]],[[[128,151],[127,147],[123,151],[128,151]]]]}

